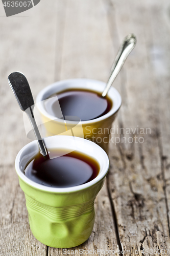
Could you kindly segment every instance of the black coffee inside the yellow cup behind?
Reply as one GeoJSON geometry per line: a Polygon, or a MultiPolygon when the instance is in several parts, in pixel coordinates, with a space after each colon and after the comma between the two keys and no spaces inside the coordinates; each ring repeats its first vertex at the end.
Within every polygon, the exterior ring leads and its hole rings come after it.
{"type": "MultiPolygon", "coordinates": [[[[53,96],[58,97],[62,114],[67,120],[71,118],[66,116],[77,116],[81,121],[92,120],[108,113],[112,106],[108,96],[102,97],[93,91],[72,89],[53,96]]],[[[46,105],[46,110],[58,117],[57,101],[46,105]]]]}

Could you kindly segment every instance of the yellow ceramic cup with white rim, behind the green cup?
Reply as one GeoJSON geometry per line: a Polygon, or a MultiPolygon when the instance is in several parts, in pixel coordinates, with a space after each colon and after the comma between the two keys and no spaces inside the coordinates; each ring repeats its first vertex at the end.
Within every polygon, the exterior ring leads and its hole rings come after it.
{"type": "MultiPolygon", "coordinates": [[[[51,86],[48,86],[40,91],[36,102],[46,129],[46,136],[62,134],[63,131],[66,131],[66,129],[67,134],[71,135],[70,131],[71,129],[74,129],[74,136],[82,137],[83,133],[85,139],[92,140],[93,142],[97,143],[108,153],[111,125],[122,104],[122,98],[115,88],[111,87],[108,92],[108,96],[112,101],[112,108],[110,111],[99,118],[88,121],[81,121],[79,124],[75,124],[74,121],[68,120],[66,120],[65,123],[65,121],[60,118],[55,119],[54,116],[46,111],[44,105],[44,100],[46,100],[51,95],[62,92],[64,90],[85,89],[102,94],[105,86],[106,83],[98,80],[69,79],[55,82],[51,86]],[[67,127],[65,127],[65,125],[67,127]]],[[[65,133],[63,134],[65,135],[65,133]]]]}

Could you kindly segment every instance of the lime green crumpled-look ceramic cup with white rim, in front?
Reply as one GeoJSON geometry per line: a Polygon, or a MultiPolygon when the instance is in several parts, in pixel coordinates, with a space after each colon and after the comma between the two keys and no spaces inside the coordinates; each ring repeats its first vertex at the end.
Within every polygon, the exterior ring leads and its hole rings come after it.
{"type": "Polygon", "coordinates": [[[76,150],[94,158],[100,165],[100,172],[92,181],[79,186],[54,188],[38,184],[23,174],[26,165],[39,152],[37,141],[23,147],[15,160],[35,238],[51,247],[74,247],[85,242],[91,234],[95,215],[94,200],[104,184],[109,159],[100,146],[82,138],[53,136],[44,141],[48,151],[51,148],[66,153],[76,150]]]}

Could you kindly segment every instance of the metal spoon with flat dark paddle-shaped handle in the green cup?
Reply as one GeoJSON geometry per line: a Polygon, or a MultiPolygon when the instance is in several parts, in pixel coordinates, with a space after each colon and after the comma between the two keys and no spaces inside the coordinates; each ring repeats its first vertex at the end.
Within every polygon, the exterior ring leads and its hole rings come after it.
{"type": "Polygon", "coordinates": [[[26,112],[28,118],[30,119],[33,131],[35,133],[35,137],[39,145],[40,153],[45,158],[49,158],[34,118],[34,99],[27,78],[20,72],[13,72],[8,77],[8,83],[15,95],[15,98],[19,104],[20,109],[26,112]]]}

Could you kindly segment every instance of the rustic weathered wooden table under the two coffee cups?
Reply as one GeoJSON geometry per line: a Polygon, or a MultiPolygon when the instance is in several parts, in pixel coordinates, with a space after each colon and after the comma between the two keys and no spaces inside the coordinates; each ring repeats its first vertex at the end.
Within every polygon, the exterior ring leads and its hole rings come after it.
{"type": "Polygon", "coordinates": [[[169,255],[170,3],[44,0],[8,18],[1,5],[0,15],[0,254],[64,255],[38,242],[29,227],[14,160],[30,141],[8,75],[23,72],[34,97],[61,79],[107,81],[120,42],[135,33],[137,45],[114,82],[123,105],[113,123],[110,172],[95,201],[94,228],[71,254],[81,248],[104,255],[119,245],[129,255],[169,255]]]}

